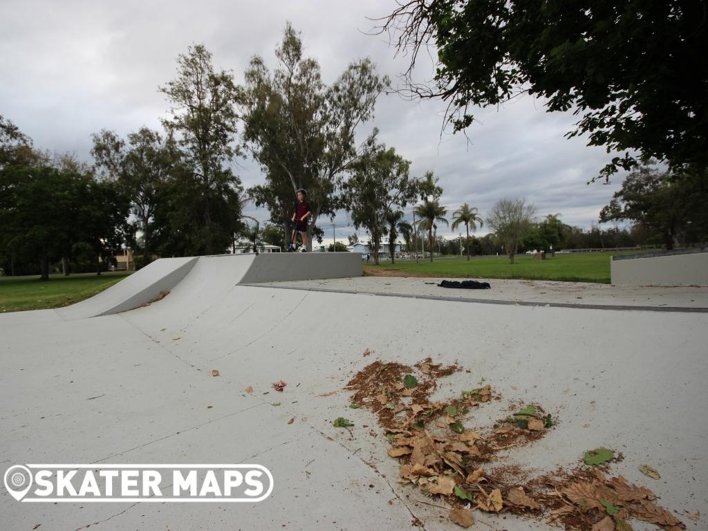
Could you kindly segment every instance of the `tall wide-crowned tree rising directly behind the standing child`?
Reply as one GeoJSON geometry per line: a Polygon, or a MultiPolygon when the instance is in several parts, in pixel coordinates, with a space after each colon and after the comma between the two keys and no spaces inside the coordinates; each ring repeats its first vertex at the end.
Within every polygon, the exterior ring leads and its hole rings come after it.
{"type": "Polygon", "coordinates": [[[389,80],[370,59],[358,59],[327,86],[290,24],[275,57],[275,69],[253,57],[241,91],[244,144],[265,173],[265,183],[251,188],[251,195],[275,223],[290,219],[297,188],[307,189],[315,218],[333,215],[341,178],[360,156],[355,132],[372,118],[389,80]]]}

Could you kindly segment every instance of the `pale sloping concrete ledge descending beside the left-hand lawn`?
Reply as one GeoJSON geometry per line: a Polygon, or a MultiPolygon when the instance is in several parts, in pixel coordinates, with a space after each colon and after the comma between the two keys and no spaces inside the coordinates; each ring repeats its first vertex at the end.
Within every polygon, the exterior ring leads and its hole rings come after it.
{"type": "Polygon", "coordinates": [[[161,291],[169,291],[197,263],[198,258],[159,258],[98,295],[55,310],[62,319],[84,319],[115,314],[151,301],[161,291]]]}

